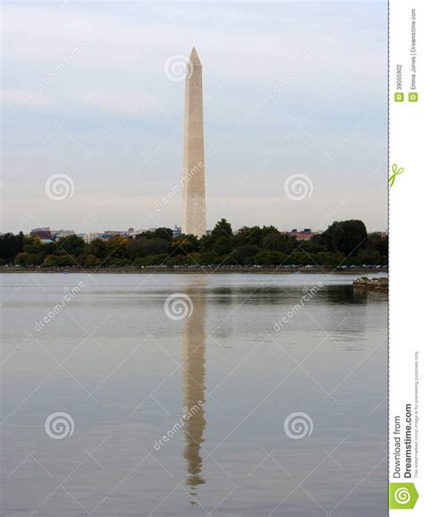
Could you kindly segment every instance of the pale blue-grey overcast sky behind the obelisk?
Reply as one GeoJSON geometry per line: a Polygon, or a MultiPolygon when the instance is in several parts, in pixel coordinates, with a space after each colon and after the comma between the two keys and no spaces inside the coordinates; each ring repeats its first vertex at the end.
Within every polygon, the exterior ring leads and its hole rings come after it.
{"type": "Polygon", "coordinates": [[[3,25],[3,231],[180,225],[170,64],[193,45],[208,228],[386,230],[386,2],[9,2],[3,25]],[[53,174],[72,195],[47,195],[53,174]]]}

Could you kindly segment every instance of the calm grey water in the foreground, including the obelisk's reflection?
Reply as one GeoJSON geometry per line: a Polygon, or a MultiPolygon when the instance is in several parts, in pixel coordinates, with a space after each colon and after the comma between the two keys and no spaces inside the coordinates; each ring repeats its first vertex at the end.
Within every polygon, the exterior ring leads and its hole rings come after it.
{"type": "Polygon", "coordinates": [[[353,278],[3,275],[2,514],[385,516],[387,295],[353,278]]]}

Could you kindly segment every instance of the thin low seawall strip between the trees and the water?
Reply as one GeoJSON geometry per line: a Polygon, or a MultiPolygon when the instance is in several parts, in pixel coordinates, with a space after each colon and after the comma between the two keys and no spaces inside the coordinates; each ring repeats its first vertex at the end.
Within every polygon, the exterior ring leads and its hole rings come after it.
{"type": "Polygon", "coordinates": [[[100,274],[118,274],[118,275],[150,275],[154,274],[264,274],[264,273],[276,273],[276,274],[289,274],[289,273],[302,273],[302,274],[337,274],[337,275],[355,275],[362,273],[377,274],[386,273],[388,274],[388,268],[377,268],[377,267],[355,267],[355,268],[332,268],[332,267],[102,267],[97,269],[92,268],[81,268],[81,267],[0,267],[0,273],[86,273],[89,275],[100,275],[100,274]]]}

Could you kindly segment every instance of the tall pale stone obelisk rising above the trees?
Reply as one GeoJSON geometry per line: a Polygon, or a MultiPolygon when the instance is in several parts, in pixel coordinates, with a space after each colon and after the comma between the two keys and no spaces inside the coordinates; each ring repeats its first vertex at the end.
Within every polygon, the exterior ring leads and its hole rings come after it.
{"type": "Polygon", "coordinates": [[[182,233],[206,233],[202,67],[193,47],[185,77],[182,233]]]}

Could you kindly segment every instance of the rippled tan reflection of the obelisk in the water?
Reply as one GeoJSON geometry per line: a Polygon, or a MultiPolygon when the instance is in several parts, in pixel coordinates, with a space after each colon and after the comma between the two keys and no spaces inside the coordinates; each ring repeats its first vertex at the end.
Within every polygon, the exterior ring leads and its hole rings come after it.
{"type": "Polygon", "coordinates": [[[197,495],[198,485],[203,485],[201,445],[206,427],[205,420],[205,285],[189,285],[186,294],[193,301],[193,312],[185,321],[182,332],[183,412],[187,415],[184,425],[186,484],[192,496],[197,495]]]}

